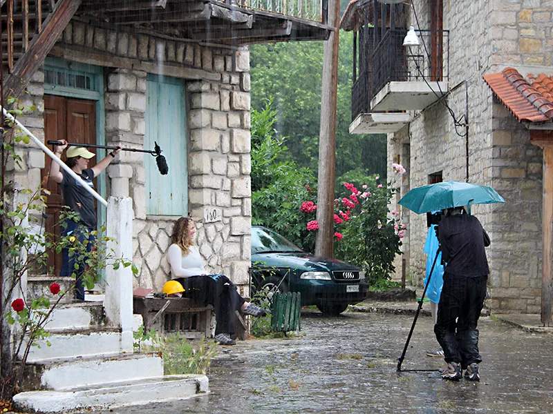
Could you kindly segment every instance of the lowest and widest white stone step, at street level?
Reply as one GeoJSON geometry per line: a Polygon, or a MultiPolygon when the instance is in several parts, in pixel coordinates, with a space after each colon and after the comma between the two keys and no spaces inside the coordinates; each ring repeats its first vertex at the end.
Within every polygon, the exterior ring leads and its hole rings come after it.
{"type": "Polygon", "coordinates": [[[66,391],[30,391],[13,397],[14,408],[26,413],[65,413],[184,400],[209,391],[205,375],[166,375],[106,387],[66,391]]]}

